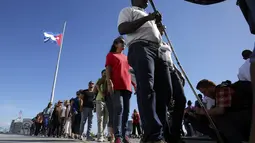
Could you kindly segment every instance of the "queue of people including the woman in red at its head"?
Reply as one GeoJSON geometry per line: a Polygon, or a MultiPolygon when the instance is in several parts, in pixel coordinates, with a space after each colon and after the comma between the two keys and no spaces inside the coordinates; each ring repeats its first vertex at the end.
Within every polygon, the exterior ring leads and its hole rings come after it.
{"type": "MultiPolygon", "coordinates": [[[[98,133],[97,140],[105,141],[104,131],[108,127],[109,139],[111,142],[128,143],[128,118],[130,109],[130,98],[132,94],[129,73],[130,66],[127,57],[123,54],[125,41],[118,37],[113,41],[109,54],[106,56],[106,69],[102,70],[101,78],[94,83],[88,83],[88,89],[76,92],[77,97],[59,101],[54,108],[49,103],[43,112],[35,118],[35,135],[41,131],[44,136],[61,137],[64,135],[71,138],[94,140],[91,137],[93,112],[97,114],[98,133]],[[88,128],[84,134],[84,125],[88,122],[88,128]]],[[[140,117],[135,111],[133,115],[134,126],[141,135],[140,117]]]]}

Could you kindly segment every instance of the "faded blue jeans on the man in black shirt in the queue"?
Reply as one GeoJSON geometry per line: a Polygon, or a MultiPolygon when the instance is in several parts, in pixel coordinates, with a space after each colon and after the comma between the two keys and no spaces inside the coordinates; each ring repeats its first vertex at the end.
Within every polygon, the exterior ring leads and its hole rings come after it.
{"type": "Polygon", "coordinates": [[[92,119],[93,119],[93,108],[83,107],[83,111],[81,113],[81,123],[80,123],[80,135],[84,132],[84,126],[88,119],[88,129],[87,129],[87,137],[90,137],[91,128],[92,128],[92,119]]]}

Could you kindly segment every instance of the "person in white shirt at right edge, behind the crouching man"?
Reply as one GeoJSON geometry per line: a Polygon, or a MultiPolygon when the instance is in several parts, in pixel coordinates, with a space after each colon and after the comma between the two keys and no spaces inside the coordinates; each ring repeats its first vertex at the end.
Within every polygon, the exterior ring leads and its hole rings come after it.
{"type": "Polygon", "coordinates": [[[250,50],[244,50],[242,52],[243,59],[245,60],[244,64],[239,68],[238,79],[241,81],[251,81],[250,74],[250,56],[252,52],[250,50]]]}

